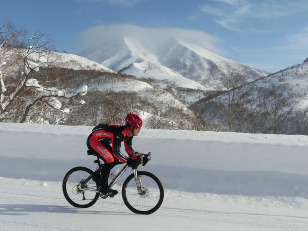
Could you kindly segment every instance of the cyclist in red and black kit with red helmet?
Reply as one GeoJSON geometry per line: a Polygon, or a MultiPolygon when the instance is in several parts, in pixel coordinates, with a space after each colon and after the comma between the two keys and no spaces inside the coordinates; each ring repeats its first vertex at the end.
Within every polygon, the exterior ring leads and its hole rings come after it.
{"type": "Polygon", "coordinates": [[[110,189],[108,186],[110,170],[115,166],[115,162],[128,163],[133,169],[140,163],[132,148],[132,139],[134,136],[138,136],[142,120],[138,115],[130,112],[125,121],[126,125],[111,123],[95,126],[86,141],[88,149],[95,151],[105,163],[101,169],[101,187],[99,189],[104,196],[114,197],[118,194],[117,190],[110,189]],[[125,151],[129,157],[121,153],[122,141],[124,141],[125,151]]]}

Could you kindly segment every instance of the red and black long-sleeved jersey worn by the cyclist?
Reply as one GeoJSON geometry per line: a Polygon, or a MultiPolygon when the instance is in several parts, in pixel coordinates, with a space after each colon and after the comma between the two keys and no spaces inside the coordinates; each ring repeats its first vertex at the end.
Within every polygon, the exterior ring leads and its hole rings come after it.
{"type": "Polygon", "coordinates": [[[125,151],[127,154],[135,154],[132,148],[134,136],[129,137],[127,126],[119,124],[99,124],[92,129],[90,137],[95,137],[105,147],[112,145],[112,154],[122,162],[126,162],[127,157],[121,153],[121,142],[124,141],[125,151]]]}

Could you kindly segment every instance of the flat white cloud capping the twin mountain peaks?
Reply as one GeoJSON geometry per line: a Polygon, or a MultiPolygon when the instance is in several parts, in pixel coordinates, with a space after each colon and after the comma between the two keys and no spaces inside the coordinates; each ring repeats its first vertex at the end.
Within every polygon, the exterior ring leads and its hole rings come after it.
{"type": "Polygon", "coordinates": [[[223,54],[219,48],[220,40],[210,34],[198,30],[183,28],[144,28],[132,24],[111,24],[90,28],[81,32],[78,44],[83,49],[113,40],[121,36],[134,37],[148,49],[157,50],[161,44],[170,39],[184,40],[188,43],[196,44],[216,54],[223,54]]]}

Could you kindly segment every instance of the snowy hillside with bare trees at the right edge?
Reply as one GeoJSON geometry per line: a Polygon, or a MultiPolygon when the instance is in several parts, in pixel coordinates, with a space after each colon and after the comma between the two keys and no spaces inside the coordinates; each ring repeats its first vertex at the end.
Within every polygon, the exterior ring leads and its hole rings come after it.
{"type": "Polygon", "coordinates": [[[234,91],[203,98],[195,106],[207,123],[222,126],[221,131],[308,135],[307,91],[308,62],[304,61],[234,91]],[[231,123],[225,116],[229,105],[231,123]]]}

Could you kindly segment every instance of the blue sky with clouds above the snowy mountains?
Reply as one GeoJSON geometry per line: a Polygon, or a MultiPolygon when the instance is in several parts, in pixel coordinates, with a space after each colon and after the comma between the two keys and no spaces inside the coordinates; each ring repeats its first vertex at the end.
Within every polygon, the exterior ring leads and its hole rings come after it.
{"type": "Polygon", "coordinates": [[[5,17],[72,54],[133,31],[185,39],[268,72],[308,57],[308,0],[10,0],[0,7],[5,17]]]}

